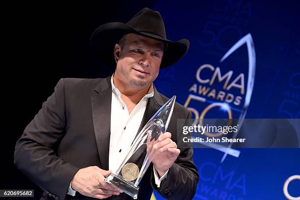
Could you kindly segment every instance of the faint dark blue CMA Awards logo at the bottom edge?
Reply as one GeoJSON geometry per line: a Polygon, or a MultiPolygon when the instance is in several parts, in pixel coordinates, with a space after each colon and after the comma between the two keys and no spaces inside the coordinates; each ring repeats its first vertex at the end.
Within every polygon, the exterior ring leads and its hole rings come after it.
{"type": "Polygon", "coordinates": [[[243,200],[246,196],[246,175],[235,171],[225,172],[222,166],[211,162],[203,163],[198,169],[200,180],[198,196],[220,200],[243,200]],[[224,189],[220,187],[223,186],[224,189]]]}

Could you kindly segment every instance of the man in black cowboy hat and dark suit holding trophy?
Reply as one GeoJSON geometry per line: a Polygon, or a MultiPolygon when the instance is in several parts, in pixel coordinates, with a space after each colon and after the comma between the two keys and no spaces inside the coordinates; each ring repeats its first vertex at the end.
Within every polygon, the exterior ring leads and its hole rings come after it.
{"type": "MultiPolygon", "coordinates": [[[[160,14],[144,8],[127,24],[101,25],[91,45],[116,66],[115,73],[105,79],[60,79],[16,144],[15,164],[44,190],[43,200],[132,199],[104,178],[116,171],[136,133],[168,100],[152,82],[159,69],[186,53],[189,42],[167,40],[160,14]]],[[[168,132],[153,146],[156,156],[139,184],[138,199],[150,199],[152,188],[168,199],[193,198],[199,180],[193,150],[176,146],[176,119],[188,118],[190,112],[175,103],[168,132]]]]}

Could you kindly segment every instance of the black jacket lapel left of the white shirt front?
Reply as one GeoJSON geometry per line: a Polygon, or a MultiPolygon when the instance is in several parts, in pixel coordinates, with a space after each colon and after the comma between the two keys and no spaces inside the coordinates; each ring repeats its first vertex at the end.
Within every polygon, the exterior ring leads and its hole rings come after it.
{"type": "Polygon", "coordinates": [[[112,95],[110,79],[111,76],[103,79],[95,88],[97,94],[91,96],[94,131],[100,165],[103,170],[108,170],[112,95]]]}

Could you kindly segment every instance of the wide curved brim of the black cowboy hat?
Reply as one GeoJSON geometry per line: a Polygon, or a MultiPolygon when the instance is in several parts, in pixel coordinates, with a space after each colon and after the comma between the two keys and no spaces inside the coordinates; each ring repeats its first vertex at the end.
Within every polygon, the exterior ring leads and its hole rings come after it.
{"type": "Polygon", "coordinates": [[[115,44],[119,42],[123,35],[128,33],[135,33],[168,44],[167,49],[164,51],[160,69],[175,64],[185,55],[190,46],[187,39],[171,41],[150,32],[138,31],[125,23],[113,22],[100,25],[94,31],[91,37],[91,47],[96,50],[96,54],[100,56],[101,61],[115,67],[116,62],[113,54],[115,44]]]}

